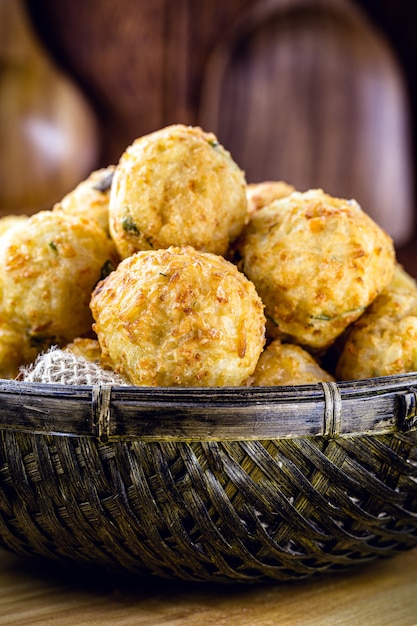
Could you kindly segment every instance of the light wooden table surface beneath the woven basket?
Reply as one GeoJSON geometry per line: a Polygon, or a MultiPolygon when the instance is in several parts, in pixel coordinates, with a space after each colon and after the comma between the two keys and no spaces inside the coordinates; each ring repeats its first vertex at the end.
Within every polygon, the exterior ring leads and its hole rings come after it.
{"type": "Polygon", "coordinates": [[[417,550],[291,584],[114,580],[0,550],[5,626],[415,626],[417,550]]]}

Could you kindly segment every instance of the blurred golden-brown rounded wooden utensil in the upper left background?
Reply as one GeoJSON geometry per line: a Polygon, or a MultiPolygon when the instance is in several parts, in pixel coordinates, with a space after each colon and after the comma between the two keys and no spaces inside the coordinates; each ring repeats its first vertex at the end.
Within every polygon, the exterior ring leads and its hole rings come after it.
{"type": "Polygon", "coordinates": [[[0,0],[0,215],[50,208],[97,155],[86,100],[48,58],[22,0],[0,0]]]}

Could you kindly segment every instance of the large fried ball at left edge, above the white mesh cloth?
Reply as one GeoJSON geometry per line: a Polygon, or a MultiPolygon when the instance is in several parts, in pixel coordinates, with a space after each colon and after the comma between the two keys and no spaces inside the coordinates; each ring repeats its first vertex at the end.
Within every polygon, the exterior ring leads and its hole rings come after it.
{"type": "Polygon", "coordinates": [[[39,350],[91,332],[96,283],[115,249],[95,221],[41,211],[0,242],[0,316],[39,350]]]}

